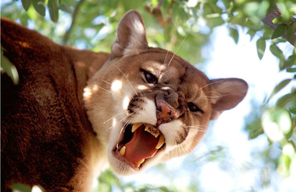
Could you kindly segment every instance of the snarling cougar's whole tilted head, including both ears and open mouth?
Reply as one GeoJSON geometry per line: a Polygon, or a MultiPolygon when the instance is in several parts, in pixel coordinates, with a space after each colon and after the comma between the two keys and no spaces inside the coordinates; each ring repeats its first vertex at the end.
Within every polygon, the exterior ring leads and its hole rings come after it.
{"type": "Polygon", "coordinates": [[[111,51],[88,81],[84,104],[119,175],[190,153],[209,120],[235,107],[248,89],[237,78],[209,80],[174,53],[148,47],[136,11],[121,19],[111,51]]]}

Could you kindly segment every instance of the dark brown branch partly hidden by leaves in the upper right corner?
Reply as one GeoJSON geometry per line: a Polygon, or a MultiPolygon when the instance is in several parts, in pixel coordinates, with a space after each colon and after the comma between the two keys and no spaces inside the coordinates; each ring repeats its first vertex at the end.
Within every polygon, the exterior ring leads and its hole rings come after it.
{"type": "MultiPolygon", "coordinates": [[[[262,19],[262,22],[268,26],[269,28],[271,28],[273,31],[274,29],[279,25],[279,24],[274,24],[272,21],[273,19],[277,18],[277,17],[280,17],[282,16],[280,10],[278,9],[278,6],[274,5],[273,8],[272,8],[272,11],[269,12],[265,18],[262,19]]],[[[294,22],[295,19],[293,19],[292,21],[294,22]]],[[[283,38],[287,40],[286,38],[286,34],[283,35],[283,38]]],[[[294,42],[295,42],[295,39],[296,39],[296,28],[294,29],[294,33],[290,39],[290,41],[288,41],[289,43],[291,43],[291,45],[294,46],[294,42]]]]}

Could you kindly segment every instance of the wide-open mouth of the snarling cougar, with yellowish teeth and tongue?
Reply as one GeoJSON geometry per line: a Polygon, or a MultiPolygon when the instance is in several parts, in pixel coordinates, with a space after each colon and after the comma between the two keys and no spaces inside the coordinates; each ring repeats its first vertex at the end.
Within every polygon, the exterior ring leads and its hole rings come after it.
{"type": "Polygon", "coordinates": [[[139,170],[147,159],[165,147],[164,136],[149,124],[135,123],[127,125],[124,136],[114,153],[122,161],[139,170]]]}

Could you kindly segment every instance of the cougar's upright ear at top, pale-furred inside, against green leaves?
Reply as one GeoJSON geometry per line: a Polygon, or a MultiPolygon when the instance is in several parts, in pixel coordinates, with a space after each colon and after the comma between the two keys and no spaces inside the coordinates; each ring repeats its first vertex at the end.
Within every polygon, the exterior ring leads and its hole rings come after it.
{"type": "Polygon", "coordinates": [[[147,49],[145,24],[135,10],[128,11],[117,27],[117,38],[111,46],[111,59],[141,49],[147,49]]]}

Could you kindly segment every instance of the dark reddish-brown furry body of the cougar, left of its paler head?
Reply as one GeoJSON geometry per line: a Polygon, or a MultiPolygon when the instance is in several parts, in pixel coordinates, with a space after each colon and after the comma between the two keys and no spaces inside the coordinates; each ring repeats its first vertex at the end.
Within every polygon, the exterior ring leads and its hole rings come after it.
{"type": "Polygon", "coordinates": [[[18,85],[1,74],[1,191],[12,182],[72,190],[69,180],[95,138],[83,88],[109,54],[57,45],[8,19],[1,19],[1,46],[19,72],[18,85]]]}

